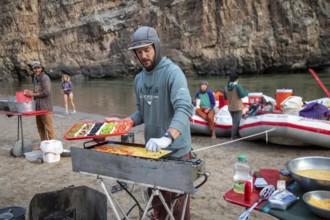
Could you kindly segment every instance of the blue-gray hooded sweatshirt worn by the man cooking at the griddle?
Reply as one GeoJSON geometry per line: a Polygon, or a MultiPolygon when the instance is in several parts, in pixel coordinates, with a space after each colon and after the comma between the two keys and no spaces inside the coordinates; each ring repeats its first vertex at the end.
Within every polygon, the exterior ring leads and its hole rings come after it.
{"type": "MultiPolygon", "coordinates": [[[[143,31],[136,33],[147,36],[143,31]]],[[[139,36],[134,35],[134,37],[139,36]]],[[[155,46],[155,50],[156,56],[157,54],[160,56],[158,46],[155,46]]],[[[193,114],[193,105],[186,77],[180,67],[170,59],[162,57],[151,70],[142,69],[135,78],[134,88],[138,109],[130,117],[134,120],[134,125],[145,124],[145,141],[162,137],[171,127],[181,133],[170,145],[179,149],[173,156],[180,157],[189,153],[191,151],[189,118],[193,114]]]]}

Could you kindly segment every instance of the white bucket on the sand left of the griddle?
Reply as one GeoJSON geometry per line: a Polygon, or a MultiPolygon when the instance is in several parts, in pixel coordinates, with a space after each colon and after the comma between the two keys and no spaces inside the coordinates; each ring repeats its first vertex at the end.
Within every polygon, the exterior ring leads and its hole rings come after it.
{"type": "Polygon", "coordinates": [[[63,152],[63,145],[58,140],[46,140],[40,144],[42,150],[42,159],[46,163],[57,162],[61,159],[61,153],[63,152]]]}

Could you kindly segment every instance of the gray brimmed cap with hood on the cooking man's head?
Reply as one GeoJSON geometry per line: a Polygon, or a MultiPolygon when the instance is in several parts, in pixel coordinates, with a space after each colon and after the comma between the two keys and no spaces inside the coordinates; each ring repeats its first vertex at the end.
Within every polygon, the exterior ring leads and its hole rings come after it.
{"type": "Polygon", "coordinates": [[[147,47],[159,42],[157,31],[152,27],[143,26],[137,29],[133,34],[133,44],[129,50],[136,48],[147,47]]]}

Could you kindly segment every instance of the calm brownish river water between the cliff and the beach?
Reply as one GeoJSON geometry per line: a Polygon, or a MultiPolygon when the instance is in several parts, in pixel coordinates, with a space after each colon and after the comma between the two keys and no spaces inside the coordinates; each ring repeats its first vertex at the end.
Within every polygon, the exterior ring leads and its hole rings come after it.
{"type": "MultiPolygon", "coordinates": [[[[317,72],[325,87],[330,90],[329,71],[317,72]]],[[[201,80],[209,82],[211,90],[222,89],[227,81],[227,76],[217,77],[188,77],[190,94],[193,97],[201,80]]],[[[77,111],[100,114],[109,117],[126,117],[135,111],[135,95],[133,78],[129,79],[97,79],[75,80],[74,102],[77,111]]],[[[281,73],[267,75],[242,75],[240,83],[250,92],[262,92],[275,98],[276,89],[292,89],[294,95],[301,96],[303,100],[310,101],[325,97],[314,77],[306,70],[301,73],[281,73]]],[[[53,105],[64,106],[63,95],[60,93],[61,81],[52,80],[53,105]]],[[[14,98],[16,91],[32,89],[32,81],[0,82],[0,94],[14,98]]]]}

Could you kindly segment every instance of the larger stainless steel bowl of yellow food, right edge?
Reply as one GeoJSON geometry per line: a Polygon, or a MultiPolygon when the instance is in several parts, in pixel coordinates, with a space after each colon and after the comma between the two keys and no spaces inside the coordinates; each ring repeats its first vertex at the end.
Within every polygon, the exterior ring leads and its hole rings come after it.
{"type": "Polygon", "coordinates": [[[300,170],[317,169],[330,171],[330,157],[310,156],[294,158],[286,163],[286,167],[291,172],[292,178],[304,190],[330,190],[330,181],[311,179],[297,174],[300,170]]]}

